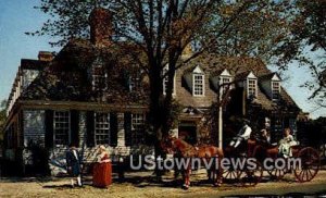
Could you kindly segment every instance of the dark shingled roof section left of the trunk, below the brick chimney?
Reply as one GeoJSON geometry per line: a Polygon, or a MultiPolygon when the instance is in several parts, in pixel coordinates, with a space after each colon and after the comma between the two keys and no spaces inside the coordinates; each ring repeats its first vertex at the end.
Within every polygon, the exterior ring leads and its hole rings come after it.
{"type": "MultiPolygon", "coordinates": [[[[130,92],[126,86],[125,71],[130,72],[131,66],[135,66],[135,64],[126,64],[127,59],[126,53],[123,53],[117,46],[97,49],[88,40],[72,40],[28,86],[21,99],[147,103],[148,95],[130,92]],[[125,59],[121,59],[122,57],[125,59]],[[110,75],[108,89],[102,91],[92,89],[89,73],[92,63],[99,58],[110,75]]],[[[143,87],[142,91],[147,91],[147,86],[143,87]]]]}

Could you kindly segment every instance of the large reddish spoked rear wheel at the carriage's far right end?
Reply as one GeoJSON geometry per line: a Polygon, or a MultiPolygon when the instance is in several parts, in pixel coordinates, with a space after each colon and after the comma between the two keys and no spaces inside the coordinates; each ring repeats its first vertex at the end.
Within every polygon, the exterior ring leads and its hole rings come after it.
{"type": "Polygon", "coordinates": [[[297,158],[301,159],[301,169],[299,166],[294,169],[297,180],[301,183],[313,180],[319,171],[321,158],[318,152],[306,147],[299,151],[297,158]]]}

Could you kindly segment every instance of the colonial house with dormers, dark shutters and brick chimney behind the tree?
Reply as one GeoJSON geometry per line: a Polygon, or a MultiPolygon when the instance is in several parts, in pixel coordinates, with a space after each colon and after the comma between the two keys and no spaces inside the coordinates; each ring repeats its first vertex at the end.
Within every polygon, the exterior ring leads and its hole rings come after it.
{"type": "MultiPolygon", "coordinates": [[[[125,53],[128,44],[112,41],[110,20],[110,12],[97,9],[90,15],[90,39],[71,40],[57,55],[40,52],[38,60],[22,60],[8,100],[7,159],[33,164],[29,148],[37,145],[46,148],[55,174],[70,143],[84,150],[87,162],[98,145],[105,145],[113,158],[153,153],[146,127],[148,77],[125,53]]],[[[173,133],[191,144],[216,143],[216,128],[209,127],[209,134],[204,128],[224,91],[221,85],[228,83],[225,127],[233,116],[247,116],[271,125],[275,137],[284,127],[296,131],[300,109],[276,73],[259,59],[208,53],[176,71],[173,97],[183,111],[173,133]]]]}

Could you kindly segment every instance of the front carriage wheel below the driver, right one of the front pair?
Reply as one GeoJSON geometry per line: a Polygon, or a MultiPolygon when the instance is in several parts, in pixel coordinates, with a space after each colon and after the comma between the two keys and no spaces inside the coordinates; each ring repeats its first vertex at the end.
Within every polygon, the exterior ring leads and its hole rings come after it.
{"type": "Polygon", "coordinates": [[[263,177],[263,168],[260,162],[255,161],[255,169],[242,171],[240,182],[242,186],[255,186],[263,177]]]}

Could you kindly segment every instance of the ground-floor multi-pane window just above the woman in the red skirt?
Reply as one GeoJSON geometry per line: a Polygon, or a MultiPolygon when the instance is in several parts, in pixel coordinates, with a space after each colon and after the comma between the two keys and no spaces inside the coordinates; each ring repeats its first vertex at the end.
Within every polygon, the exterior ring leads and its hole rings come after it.
{"type": "Polygon", "coordinates": [[[109,113],[95,113],[95,143],[96,145],[110,144],[109,113]]]}

